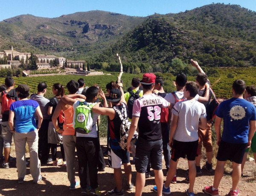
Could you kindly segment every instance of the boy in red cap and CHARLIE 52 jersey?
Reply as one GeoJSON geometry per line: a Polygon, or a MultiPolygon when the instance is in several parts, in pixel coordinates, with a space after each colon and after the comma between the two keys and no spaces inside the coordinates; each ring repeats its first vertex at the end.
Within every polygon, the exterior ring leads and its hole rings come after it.
{"type": "Polygon", "coordinates": [[[127,149],[131,152],[131,139],[139,128],[139,136],[136,144],[135,168],[137,171],[135,196],[141,196],[145,186],[145,172],[148,161],[154,170],[158,196],[162,196],[163,171],[162,152],[163,141],[160,124],[161,108],[170,104],[164,98],[152,93],[156,76],[153,73],[145,73],[140,83],[143,86],[143,97],[134,101],[132,121],[127,139],[127,149]]]}

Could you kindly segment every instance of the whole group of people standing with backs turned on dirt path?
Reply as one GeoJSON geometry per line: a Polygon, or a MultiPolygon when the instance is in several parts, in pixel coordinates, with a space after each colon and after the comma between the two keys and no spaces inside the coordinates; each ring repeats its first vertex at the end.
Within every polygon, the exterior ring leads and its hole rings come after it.
{"type": "Polygon", "coordinates": [[[9,167],[8,147],[12,142],[12,134],[15,134],[18,183],[23,183],[26,175],[26,142],[29,145],[30,172],[33,182],[37,183],[42,179],[40,164],[49,161],[50,149],[53,165],[61,164],[60,159],[56,158],[57,144],[61,144],[62,166],[67,167],[70,189],[79,185],[74,169],[76,149],[81,193],[101,195],[98,171],[105,170],[105,162],[99,142],[99,116],[107,115],[108,164],[114,169],[116,183],[115,188],[108,191],[108,195],[124,195],[122,164],[127,180],[126,190],[133,190],[130,164],[132,153],[137,171],[136,196],[142,195],[145,178],[150,176],[150,168],[154,170],[156,183],[153,190],[158,196],[170,194],[170,184],[177,183],[176,169],[180,158],[188,160],[189,188],[185,192],[188,196],[193,196],[196,173],[202,173],[202,146],[205,147],[207,156],[203,168],[213,171],[211,127],[212,118],[216,115],[215,131],[219,146],[217,165],[213,185],[206,186],[204,190],[205,193],[218,196],[224,166],[230,160],[233,163],[230,194],[238,195],[241,166],[243,167],[247,156],[244,152],[251,146],[256,156],[256,87],[245,86],[242,80],[234,81],[233,98],[221,102],[215,113],[212,113],[209,109],[212,90],[207,75],[196,61],[191,60],[191,63],[198,70],[195,81],[188,82],[185,74],[178,74],[175,80],[176,91],[170,93],[164,91],[162,77],[145,73],[142,80],[132,79],[132,86],[127,92],[124,92],[122,82],[108,83],[107,93],[104,93],[97,85],[84,88],[84,80],[79,79],[78,82],[72,80],[67,83],[68,95],[64,95],[64,86],[56,83],[52,87],[55,97],[48,100],[44,98],[47,84],[39,83],[38,93],[28,99],[29,86],[20,84],[13,90],[15,83],[11,77],[7,77],[7,89],[1,94],[5,155],[3,167],[9,167]],[[6,108],[4,99],[11,100],[9,96],[15,97],[15,94],[17,99],[12,101],[7,114],[3,110],[6,108]],[[89,128],[85,128],[84,124],[84,129],[81,129],[76,122],[84,122],[84,118],[88,118],[79,112],[79,107],[83,105],[89,108],[92,122],[89,128]],[[224,121],[222,135],[221,121],[224,121]],[[129,130],[126,133],[125,150],[120,142],[120,127],[129,130]],[[162,155],[167,170],[165,183],[162,155]]]}

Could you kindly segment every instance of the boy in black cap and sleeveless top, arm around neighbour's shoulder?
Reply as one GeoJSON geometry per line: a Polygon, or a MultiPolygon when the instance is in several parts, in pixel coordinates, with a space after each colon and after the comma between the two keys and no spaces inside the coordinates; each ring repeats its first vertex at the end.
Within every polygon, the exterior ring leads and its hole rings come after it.
{"type": "MultiPolygon", "coordinates": [[[[119,84],[121,85],[121,84],[119,84]]],[[[102,99],[105,101],[105,95],[101,94],[102,99]]],[[[133,189],[133,183],[131,182],[131,164],[130,153],[127,150],[122,150],[118,141],[120,140],[120,127],[122,120],[120,119],[116,110],[121,113],[126,112],[128,116],[127,105],[125,104],[125,98],[122,90],[122,85],[118,89],[111,89],[108,101],[111,102],[112,107],[100,107],[100,103],[93,106],[92,111],[101,115],[108,115],[108,127],[110,130],[110,141],[108,149],[108,164],[114,169],[114,178],[116,181],[116,187],[108,191],[108,195],[123,196],[122,190],[122,170],[121,165],[124,165],[125,176],[127,179],[127,189],[133,189]]]]}

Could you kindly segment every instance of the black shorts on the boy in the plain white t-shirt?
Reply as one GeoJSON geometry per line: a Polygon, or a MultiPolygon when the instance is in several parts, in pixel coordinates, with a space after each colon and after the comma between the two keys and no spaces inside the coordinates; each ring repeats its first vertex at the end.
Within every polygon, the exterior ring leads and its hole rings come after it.
{"type": "Polygon", "coordinates": [[[182,157],[189,161],[195,161],[195,157],[198,156],[198,140],[197,141],[177,141],[174,140],[172,145],[172,156],[173,161],[177,161],[182,157]]]}

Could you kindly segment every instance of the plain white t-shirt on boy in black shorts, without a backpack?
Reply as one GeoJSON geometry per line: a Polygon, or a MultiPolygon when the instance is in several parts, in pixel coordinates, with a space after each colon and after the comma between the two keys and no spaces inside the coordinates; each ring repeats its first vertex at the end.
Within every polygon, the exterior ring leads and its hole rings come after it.
{"type": "Polygon", "coordinates": [[[207,116],[204,104],[195,100],[179,101],[172,108],[172,113],[178,116],[173,139],[177,141],[198,140],[199,118],[207,116]]]}

